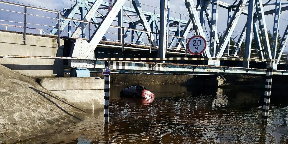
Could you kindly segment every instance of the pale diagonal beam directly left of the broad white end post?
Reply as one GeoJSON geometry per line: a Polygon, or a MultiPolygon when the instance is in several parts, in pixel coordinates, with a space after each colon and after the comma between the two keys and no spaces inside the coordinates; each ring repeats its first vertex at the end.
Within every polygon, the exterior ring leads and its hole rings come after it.
{"type": "MultiPolygon", "coordinates": [[[[91,18],[94,17],[94,14],[98,10],[98,8],[100,7],[102,2],[103,2],[103,0],[95,1],[95,3],[92,5],[92,7],[88,11],[88,13],[85,15],[83,20],[90,21],[91,18]]],[[[71,37],[79,37],[79,35],[81,35],[82,31],[84,30],[83,28],[85,28],[87,24],[88,23],[86,23],[86,22],[81,22],[71,37]]]]}

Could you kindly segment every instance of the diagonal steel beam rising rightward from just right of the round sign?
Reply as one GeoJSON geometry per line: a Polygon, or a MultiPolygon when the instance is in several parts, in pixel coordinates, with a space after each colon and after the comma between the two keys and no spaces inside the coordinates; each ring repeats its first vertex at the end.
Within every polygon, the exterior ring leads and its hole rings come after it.
{"type": "Polygon", "coordinates": [[[216,57],[217,58],[221,58],[221,56],[223,55],[223,52],[228,44],[228,41],[230,40],[230,37],[236,27],[236,24],[240,18],[240,15],[242,13],[242,11],[244,10],[245,4],[246,4],[247,0],[240,0],[238,6],[236,7],[236,10],[231,18],[231,21],[229,23],[229,26],[227,27],[224,35],[223,35],[223,39],[221,40],[221,42],[219,43],[219,46],[217,48],[216,51],[216,57]]]}

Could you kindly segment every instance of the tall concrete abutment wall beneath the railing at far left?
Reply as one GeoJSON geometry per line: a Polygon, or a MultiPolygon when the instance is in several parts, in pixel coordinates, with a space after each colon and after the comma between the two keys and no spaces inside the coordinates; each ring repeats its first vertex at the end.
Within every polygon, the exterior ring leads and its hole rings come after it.
{"type": "MultiPolygon", "coordinates": [[[[64,40],[45,35],[26,34],[23,44],[23,33],[0,31],[0,54],[18,56],[63,56],[64,40]]],[[[31,77],[63,75],[62,59],[40,58],[0,58],[0,64],[20,74],[31,77]]]]}

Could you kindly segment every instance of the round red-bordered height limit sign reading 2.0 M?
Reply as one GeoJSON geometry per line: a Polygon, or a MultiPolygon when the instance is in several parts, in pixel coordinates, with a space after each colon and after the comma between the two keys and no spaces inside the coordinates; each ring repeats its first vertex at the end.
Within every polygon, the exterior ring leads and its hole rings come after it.
{"type": "Polygon", "coordinates": [[[206,49],[207,43],[204,37],[195,35],[191,37],[187,42],[187,49],[190,54],[199,55],[202,54],[206,49]]]}

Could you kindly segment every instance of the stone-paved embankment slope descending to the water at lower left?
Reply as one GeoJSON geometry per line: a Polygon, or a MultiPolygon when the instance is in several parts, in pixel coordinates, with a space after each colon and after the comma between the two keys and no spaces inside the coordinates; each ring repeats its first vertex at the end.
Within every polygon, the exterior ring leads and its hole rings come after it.
{"type": "Polygon", "coordinates": [[[0,144],[74,126],[85,111],[0,65],[0,144]]]}

